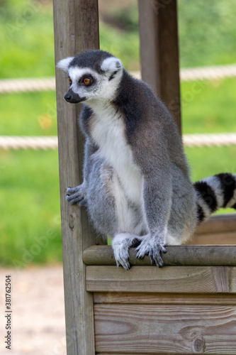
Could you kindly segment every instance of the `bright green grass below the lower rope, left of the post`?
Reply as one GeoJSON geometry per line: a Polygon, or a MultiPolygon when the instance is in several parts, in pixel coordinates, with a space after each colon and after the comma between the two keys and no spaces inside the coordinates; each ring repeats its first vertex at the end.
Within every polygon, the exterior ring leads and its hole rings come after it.
{"type": "Polygon", "coordinates": [[[0,158],[1,265],[62,261],[57,151],[0,158]]]}

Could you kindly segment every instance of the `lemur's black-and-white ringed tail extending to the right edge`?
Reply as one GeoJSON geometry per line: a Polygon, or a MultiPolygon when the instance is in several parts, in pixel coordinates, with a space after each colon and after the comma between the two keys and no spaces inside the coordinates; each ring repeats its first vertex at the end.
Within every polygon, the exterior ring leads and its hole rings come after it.
{"type": "Polygon", "coordinates": [[[236,209],[236,175],[221,173],[193,184],[196,191],[198,224],[221,207],[236,209]]]}

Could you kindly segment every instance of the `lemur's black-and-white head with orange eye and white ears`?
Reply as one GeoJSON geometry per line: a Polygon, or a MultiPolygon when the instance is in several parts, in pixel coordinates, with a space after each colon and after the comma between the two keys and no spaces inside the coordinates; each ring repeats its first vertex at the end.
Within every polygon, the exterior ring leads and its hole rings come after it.
{"type": "Polygon", "coordinates": [[[64,99],[71,104],[92,99],[113,99],[123,75],[120,59],[103,50],[86,50],[60,60],[57,67],[67,72],[69,90],[64,99]]]}

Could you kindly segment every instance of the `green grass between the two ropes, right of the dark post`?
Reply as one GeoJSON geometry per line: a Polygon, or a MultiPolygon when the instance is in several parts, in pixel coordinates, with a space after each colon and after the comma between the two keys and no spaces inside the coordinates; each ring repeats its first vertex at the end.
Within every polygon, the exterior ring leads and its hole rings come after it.
{"type": "Polygon", "coordinates": [[[182,82],[184,133],[236,132],[236,78],[182,82]]]}

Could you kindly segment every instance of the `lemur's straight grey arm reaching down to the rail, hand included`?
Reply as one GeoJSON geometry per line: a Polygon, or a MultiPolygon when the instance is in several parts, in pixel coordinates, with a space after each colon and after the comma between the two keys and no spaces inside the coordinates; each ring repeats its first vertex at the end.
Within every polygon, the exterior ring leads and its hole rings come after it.
{"type": "MultiPolygon", "coordinates": [[[[153,136],[150,133],[150,137],[153,136]]],[[[160,252],[165,252],[165,236],[172,207],[172,168],[164,134],[142,141],[135,147],[137,162],[144,177],[143,202],[150,233],[137,247],[137,257],[149,254],[151,260],[162,266],[160,252]]]]}

